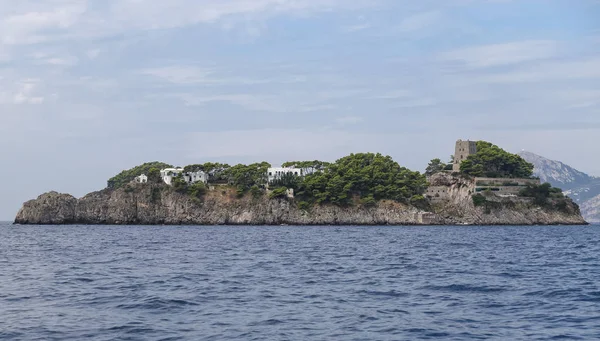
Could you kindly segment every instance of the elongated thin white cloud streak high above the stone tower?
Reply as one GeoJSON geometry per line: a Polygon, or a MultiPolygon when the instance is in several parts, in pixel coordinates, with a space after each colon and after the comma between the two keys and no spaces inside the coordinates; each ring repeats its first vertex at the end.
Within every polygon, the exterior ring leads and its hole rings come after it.
{"type": "Polygon", "coordinates": [[[549,40],[518,41],[452,50],[443,53],[440,59],[469,68],[488,68],[552,58],[559,53],[559,46],[549,40]]]}

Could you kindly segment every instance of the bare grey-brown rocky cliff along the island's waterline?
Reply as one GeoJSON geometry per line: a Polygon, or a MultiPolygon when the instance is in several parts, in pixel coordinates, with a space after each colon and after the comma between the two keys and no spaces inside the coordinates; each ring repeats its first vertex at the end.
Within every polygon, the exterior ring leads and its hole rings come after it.
{"type": "Polygon", "coordinates": [[[301,210],[287,199],[237,198],[235,191],[216,190],[202,200],[175,192],[166,185],[136,184],[128,189],[102,190],[81,199],[46,193],[26,202],[17,224],[148,224],[148,225],[418,225],[418,224],[583,224],[577,212],[532,209],[523,204],[489,211],[477,208],[470,183],[445,178],[452,200],[430,211],[396,202],[374,207],[314,206],[301,210]]]}

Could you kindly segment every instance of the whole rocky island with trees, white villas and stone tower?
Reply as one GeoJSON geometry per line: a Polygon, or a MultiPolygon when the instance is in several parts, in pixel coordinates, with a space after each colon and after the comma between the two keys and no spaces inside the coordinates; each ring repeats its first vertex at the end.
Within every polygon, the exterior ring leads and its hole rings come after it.
{"type": "Polygon", "coordinates": [[[15,224],[580,225],[578,205],[534,178],[533,165],[485,141],[455,144],[424,174],[390,156],[186,167],[150,162],[82,198],[28,201],[15,224]]]}

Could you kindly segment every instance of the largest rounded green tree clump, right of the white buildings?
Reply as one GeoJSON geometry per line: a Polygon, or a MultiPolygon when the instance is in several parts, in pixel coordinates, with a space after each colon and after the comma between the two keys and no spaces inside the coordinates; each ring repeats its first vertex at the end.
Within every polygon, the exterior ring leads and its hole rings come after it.
{"type": "Polygon", "coordinates": [[[408,203],[423,194],[425,176],[401,167],[381,154],[351,154],[308,174],[294,188],[297,197],[309,203],[350,205],[356,198],[363,204],[378,200],[408,203]]]}

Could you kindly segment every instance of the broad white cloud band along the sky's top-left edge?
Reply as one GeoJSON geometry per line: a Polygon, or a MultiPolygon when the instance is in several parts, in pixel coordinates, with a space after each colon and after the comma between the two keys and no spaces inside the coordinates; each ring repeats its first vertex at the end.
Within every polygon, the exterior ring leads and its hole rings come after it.
{"type": "Polygon", "coordinates": [[[5,2],[0,9],[0,44],[9,45],[100,38],[198,24],[225,30],[239,26],[248,37],[255,37],[265,30],[260,23],[273,16],[305,16],[373,4],[372,0],[106,0],[101,6],[87,0],[5,2]]]}

